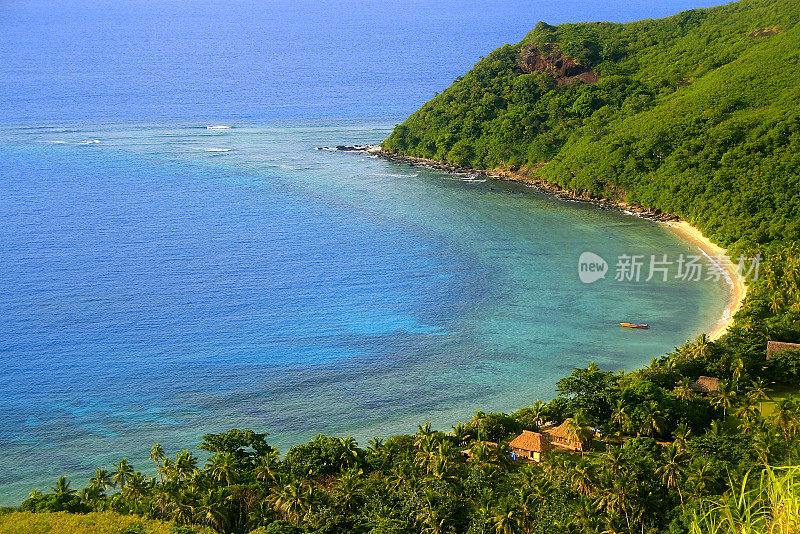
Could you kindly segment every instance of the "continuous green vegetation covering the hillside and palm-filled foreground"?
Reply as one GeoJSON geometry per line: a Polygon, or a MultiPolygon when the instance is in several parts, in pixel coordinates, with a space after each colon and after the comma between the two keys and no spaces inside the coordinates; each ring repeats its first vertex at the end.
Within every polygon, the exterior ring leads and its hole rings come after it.
{"type": "Polygon", "coordinates": [[[744,0],[632,24],[540,23],[385,142],[520,166],[759,252],[759,276],[718,341],[700,336],[631,373],[587,362],[549,402],[366,447],[320,435],[281,457],[251,430],[208,434],[200,452],[156,444],[143,471],[123,458],[80,491],[64,477],[32,491],[0,532],[57,512],[231,533],[800,532],[800,351],[766,357],[768,340],[800,342],[798,21],[797,2],[744,0]],[[570,61],[526,74],[521,54],[527,65],[570,61]],[[700,376],[719,388],[698,393],[700,376]],[[522,430],[560,423],[582,453],[512,459],[522,430]]]}

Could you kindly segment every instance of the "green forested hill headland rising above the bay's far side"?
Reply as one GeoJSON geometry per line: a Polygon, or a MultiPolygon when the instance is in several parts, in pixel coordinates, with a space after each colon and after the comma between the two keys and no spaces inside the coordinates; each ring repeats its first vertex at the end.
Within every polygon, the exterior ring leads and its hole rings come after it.
{"type": "Polygon", "coordinates": [[[800,238],[800,2],[540,22],[384,141],[672,212],[739,246],[800,238]]]}

